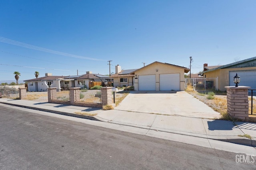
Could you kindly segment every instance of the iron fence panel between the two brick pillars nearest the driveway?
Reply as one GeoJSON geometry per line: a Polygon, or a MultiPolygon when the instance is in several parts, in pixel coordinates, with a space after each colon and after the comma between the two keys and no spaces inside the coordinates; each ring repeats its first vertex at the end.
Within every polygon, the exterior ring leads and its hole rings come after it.
{"type": "Polygon", "coordinates": [[[76,96],[76,102],[101,104],[101,90],[80,90],[79,98],[76,96]]]}

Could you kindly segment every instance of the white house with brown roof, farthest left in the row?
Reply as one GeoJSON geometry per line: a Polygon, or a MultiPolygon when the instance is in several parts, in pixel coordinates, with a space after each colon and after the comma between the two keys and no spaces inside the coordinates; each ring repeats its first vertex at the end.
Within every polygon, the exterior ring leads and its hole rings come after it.
{"type": "Polygon", "coordinates": [[[52,76],[51,73],[46,73],[44,77],[24,80],[28,83],[29,92],[47,91],[47,88],[57,87],[60,88],[60,80],[64,80],[63,76],[52,76]]]}

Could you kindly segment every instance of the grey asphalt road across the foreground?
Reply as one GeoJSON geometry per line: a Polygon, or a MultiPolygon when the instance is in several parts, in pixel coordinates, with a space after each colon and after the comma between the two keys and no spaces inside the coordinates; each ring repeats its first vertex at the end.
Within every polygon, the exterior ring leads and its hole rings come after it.
{"type": "MultiPolygon", "coordinates": [[[[33,111],[33,110],[32,110],[33,111]]],[[[236,153],[0,106],[0,169],[256,169],[236,153]]]]}

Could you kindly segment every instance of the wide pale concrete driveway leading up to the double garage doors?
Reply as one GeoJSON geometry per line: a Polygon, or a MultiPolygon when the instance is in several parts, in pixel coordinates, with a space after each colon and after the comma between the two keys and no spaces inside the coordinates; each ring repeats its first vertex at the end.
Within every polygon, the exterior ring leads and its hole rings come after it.
{"type": "Polygon", "coordinates": [[[184,91],[130,92],[115,109],[186,117],[220,117],[220,113],[184,91]]]}

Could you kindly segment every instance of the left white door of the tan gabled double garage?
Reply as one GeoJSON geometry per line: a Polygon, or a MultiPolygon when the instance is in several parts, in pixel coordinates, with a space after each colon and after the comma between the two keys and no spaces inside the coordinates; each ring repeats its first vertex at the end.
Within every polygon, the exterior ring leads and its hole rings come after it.
{"type": "Polygon", "coordinates": [[[156,75],[138,77],[139,90],[156,90],[156,75]]]}

